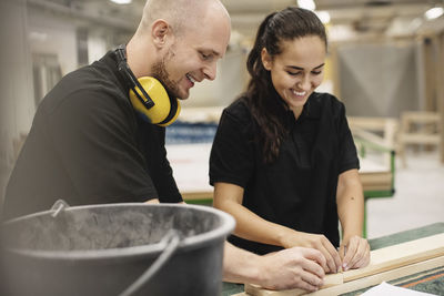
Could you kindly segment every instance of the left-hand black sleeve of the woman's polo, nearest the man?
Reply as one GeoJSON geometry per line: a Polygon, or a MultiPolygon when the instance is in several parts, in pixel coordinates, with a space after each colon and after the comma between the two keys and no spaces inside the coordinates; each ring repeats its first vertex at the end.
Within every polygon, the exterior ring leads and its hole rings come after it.
{"type": "Polygon", "coordinates": [[[210,184],[225,182],[245,187],[254,172],[250,124],[224,111],[210,154],[210,184]]]}

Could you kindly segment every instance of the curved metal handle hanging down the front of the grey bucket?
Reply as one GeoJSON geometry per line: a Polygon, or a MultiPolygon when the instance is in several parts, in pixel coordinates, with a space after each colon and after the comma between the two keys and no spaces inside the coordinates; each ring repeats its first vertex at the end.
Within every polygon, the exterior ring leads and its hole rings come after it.
{"type": "Polygon", "coordinates": [[[155,259],[153,264],[141,275],[139,278],[132,283],[125,290],[123,290],[119,296],[130,296],[138,292],[145,283],[148,283],[160,268],[165,265],[170,257],[178,249],[180,237],[176,231],[170,229],[165,236],[163,236],[161,243],[165,246],[164,251],[155,259]]]}

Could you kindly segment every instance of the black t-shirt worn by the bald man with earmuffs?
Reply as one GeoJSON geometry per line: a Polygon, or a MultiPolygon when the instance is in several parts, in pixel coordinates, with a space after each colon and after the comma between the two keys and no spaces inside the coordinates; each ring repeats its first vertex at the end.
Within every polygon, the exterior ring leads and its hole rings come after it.
{"type": "Polygon", "coordinates": [[[180,202],[164,127],[141,120],[111,51],[43,99],[9,180],[4,217],[70,205],[180,202]]]}

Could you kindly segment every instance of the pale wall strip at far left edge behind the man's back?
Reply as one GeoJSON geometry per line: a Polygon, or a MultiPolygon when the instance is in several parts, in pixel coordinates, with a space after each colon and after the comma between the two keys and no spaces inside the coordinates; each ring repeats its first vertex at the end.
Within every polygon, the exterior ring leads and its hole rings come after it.
{"type": "Polygon", "coordinates": [[[34,113],[31,55],[24,0],[0,1],[0,210],[14,161],[13,140],[34,113]]]}

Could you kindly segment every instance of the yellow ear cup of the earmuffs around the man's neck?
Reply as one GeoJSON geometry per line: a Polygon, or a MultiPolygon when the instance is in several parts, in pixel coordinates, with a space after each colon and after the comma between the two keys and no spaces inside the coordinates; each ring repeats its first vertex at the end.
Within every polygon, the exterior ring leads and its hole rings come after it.
{"type": "MultiPolygon", "coordinates": [[[[142,118],[147,121],[159,124],[161,126],[167,126],[171,124],[180,113],[180,103],[178,99],[172,98],[173,106],[170,101],[170,96],[167,93],[167,90],[163,88],[162,83],[159,80],[151,76],[143,76],[138,79],[141,86],[145,90],[148,95],[150,95],[151,100],[154,102],[154,106],[147,109],[140,101],[139,98],[134,94],[132,90],[130,90],[130,101],[142,118]],[[174,106],[176,103],[176,106],[174,106]],[[173,109],[173,110],[172,110],[173,109]]],[[[135,91],[141,94],[139,86],[135,86],[135,91]]],[[[142,95],[143,98],[143,95],[142,95]]],[[[148,100],[147,100],[148,101],[148,100]]]]}

